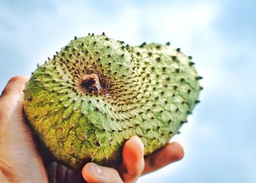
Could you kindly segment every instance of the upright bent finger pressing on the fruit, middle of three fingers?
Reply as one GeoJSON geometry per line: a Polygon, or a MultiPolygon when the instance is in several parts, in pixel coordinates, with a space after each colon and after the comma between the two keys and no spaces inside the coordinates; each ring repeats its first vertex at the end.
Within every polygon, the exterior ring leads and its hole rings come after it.
{"type": "Polygon", "coordinates": [[[135,182],[144,170],[144,146],[140,138],[133,136],[123,149],[123,163],[120,175],[124,182],[135,182]]]}

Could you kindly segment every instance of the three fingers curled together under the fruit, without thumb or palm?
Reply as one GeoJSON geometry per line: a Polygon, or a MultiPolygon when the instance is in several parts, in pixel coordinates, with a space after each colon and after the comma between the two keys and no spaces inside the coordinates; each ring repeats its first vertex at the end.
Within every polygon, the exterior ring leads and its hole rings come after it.
{"type": "Polygon", "coordinates": [[[123,150],[123,162],[116,168],[88,163],[82,173],[87,182],[136,182],[140,175],[150,173],[167,164],[182,159],[184,152],[179,143],[173,142],[143,157],[144,147],[140,138],[133,136],[123,150]]]}

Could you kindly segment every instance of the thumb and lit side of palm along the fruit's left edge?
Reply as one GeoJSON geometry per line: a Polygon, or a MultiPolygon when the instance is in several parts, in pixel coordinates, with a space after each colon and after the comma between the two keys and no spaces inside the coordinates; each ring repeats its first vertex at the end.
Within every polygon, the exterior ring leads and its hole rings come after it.
{"type": "Polygon", "coordinates": [[[10,79],[0,97],[0,182],[48,182],[42,156],[23,117],[26,77],[10,79]]]}

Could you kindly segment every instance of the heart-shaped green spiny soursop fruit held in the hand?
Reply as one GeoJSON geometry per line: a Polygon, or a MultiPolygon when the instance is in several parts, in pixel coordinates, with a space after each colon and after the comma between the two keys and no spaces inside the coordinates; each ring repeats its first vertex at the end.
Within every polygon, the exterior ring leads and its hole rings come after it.
{"type": "Polygon", "coordinates": [[[26,85],[24,111],[57,161],[113,166],[139,136],[145,155],[186,122],[200,85],[191,60],[170,44],[124,46],[108,36],[75,37],[26,85]]]}

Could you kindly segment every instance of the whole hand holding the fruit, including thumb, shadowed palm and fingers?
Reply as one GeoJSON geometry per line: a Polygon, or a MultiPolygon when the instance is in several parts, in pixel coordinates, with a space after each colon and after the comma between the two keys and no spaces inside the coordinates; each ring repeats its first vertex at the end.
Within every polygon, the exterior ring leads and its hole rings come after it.
{"type": "Polygon", "coordinates": [[[143,157],[140,138],[133,136],[123,149],[123,161],[115,168],[87,163],[82,170],[45,159],[23,112],[28,78],[16,76],[8,81],[0,97],[0,182],[136,182],[143,174],[182,159],[183,148],[169,143],[143,157]]]}

